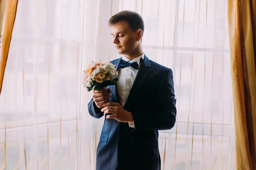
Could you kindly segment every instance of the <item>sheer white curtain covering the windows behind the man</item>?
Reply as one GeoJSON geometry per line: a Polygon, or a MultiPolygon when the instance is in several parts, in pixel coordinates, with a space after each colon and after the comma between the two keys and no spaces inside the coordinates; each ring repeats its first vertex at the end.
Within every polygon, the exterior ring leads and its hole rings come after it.
{"type": "MultiPolygon", "coordinates": [[[[0,170],[94,170],[104,118],[81,86],[91,60],[119,58],[108,19],[140,13],[143,50],[172,68],[177,123],[163,170],[233,170],[226,0],[20,0],[0,96],[0,170]]],[[[152,91],[154,93],[154,91],[152,91]]]]}

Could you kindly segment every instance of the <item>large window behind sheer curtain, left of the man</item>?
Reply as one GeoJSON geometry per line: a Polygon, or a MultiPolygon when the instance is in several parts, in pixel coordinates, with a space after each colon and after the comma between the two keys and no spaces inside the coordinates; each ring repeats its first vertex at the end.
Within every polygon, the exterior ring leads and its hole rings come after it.
{"type": "Polygon", "coordinates": [[[0,96],[0,167],[6,147],[6,169],[25,168],[24,150],[28,169],[35,156],[41,169],[76,169],[83,11],[82,0],[19,1],[0,96]]]}

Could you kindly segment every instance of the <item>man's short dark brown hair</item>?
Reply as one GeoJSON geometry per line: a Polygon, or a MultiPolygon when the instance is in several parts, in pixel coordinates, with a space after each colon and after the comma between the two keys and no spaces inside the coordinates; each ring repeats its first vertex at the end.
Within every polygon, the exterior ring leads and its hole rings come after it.
{"type": "Polygon", "coordinates": [[[113,26],[120,21],[126,21],[129,24],[129,27],[132,31],[137,31],[141,29],[142,35],[144,33],[144,21],[140,14],[134,11],[121,11],[113,15],[109,21],[108,25],[113,26]]]}

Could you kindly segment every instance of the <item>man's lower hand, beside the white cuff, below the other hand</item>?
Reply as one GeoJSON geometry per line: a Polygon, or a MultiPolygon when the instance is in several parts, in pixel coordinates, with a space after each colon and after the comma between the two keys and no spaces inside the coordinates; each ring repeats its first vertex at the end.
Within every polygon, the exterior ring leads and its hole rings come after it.
{"type": "Polygon", "coordinates": [[[125,109],[119,104],[115,102],[107,102],[102,105],[102,112],[104,112],[104,115],[107,113],[113,113],[113,115],[107,115],[107,119],[116,119],[119,122],[128,122],[133,123],[133,117],[131,112],[125,111],[125,109]]]}

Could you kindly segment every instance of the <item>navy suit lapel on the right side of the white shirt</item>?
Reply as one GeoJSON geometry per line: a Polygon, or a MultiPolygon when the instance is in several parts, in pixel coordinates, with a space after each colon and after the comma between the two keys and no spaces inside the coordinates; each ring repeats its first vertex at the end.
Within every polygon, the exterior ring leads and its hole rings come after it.
{"type": "MultiPolygon", "coordinates": [[[[133,85],[132,85],[132,87],[131,87],[131,91],[130,91],[130,93],[129,93],[129,95],[128,95],[128,98],[127,98],[127,100],[126,100],[126,102],[125,102],[125,105],[127,104],[127,102],[129,101],[129,99],[131,98],[131,97],[130,97],[130,96],[131,96],[130,94],[136,92],[136,91],[140,88],[140,86],[143,84],[144,80],[145,80],[145,79],[148,77],[148,75],[151,73],[150,68],[151,68],[150,60],[149,60],[148,57],[146,57],[146,55],[145,55],[145,57],[144,57],[144,59],[143,59],[143,62],[142,62],[141,65],[140,65],[140,69],[139,69],[139,71],[138,71],[138,74],[137,74],[137,76],[136,76],[135,79],[134,79],[134,83],[133,83],[133,85]]],[[[125,107],[125,105],[124,105],[124,107],[125,107]]]]}

